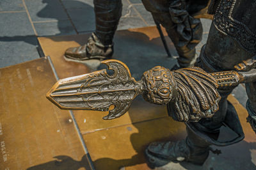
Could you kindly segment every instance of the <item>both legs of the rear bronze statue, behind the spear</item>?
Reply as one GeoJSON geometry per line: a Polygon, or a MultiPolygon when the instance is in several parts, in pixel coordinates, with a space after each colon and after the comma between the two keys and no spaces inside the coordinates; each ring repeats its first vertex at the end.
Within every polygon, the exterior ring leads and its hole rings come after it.
{"type": "MultiPolygon", "coordinates": [[[[143,4],[152,13],[154,20],[165,27],[179,54],[179,65],[181,67],[193,65],[196,58],[195,46],[202,38],[200,20],[189,15],[184,1],[143,0],[143,4]]],[[[122,15],[122,1],[94,0],[94,6],[95,33],[88,39],[86,45],[73,47],[65,52],[65,58],[69,61],[103,60],[111,58],[113,54],[112,40],[122,15]]]]}

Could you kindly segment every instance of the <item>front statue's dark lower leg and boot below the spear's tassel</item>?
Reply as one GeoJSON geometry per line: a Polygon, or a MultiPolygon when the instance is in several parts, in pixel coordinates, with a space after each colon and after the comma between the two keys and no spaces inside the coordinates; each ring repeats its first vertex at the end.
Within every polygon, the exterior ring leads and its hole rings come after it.
{"type": "MultiPolygon", "coordinates": [[[[216,141],[220,134],[220,127],[227,113],[227,95],[221,93],[219,111],[212,118],[202,118],[197,123],[186,124],[188,136],[186,139],[172,142],[150,143],[145,150],[145,156],[150,167],[160,167],[175,161],[186,161],[202,165],[209,155],[212,141],[216,141]],[[193,130],[191,130],[193,129],[193,130]],[[204,135],[202,135],[204,134],[204,135]],[[210,141],[209,138],[212,140],[210,141]]],[[[170,111],[168,111],[170,112],[170,111]]]]}

